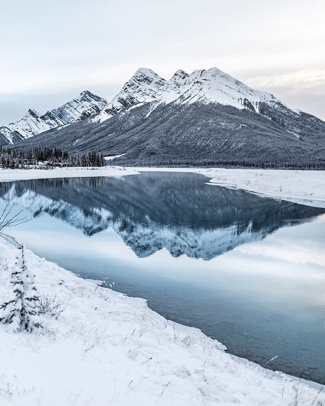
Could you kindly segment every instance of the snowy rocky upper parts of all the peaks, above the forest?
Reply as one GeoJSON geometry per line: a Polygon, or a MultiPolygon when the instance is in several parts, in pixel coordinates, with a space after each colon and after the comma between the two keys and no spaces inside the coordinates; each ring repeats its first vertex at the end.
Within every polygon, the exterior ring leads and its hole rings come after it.
{"type": "MultiPolygon", "coordinates": [[[[216,67],[196,70],[191,74],[178,70],[169,80],[150,69],[140,68],[109,103],[89,91],[83,91],[75,99],[44,115],[28,110],[16,123],[0,129],[0,145],[16,144],[21,141],[16,138],[17,135],[26,139],[80,120],[101,123],[122,110],[127,111],[125,109],[147,103],[150,103],[150,111],[146,116],[149,117],[161,104],[191,105],[197,102],[247,109],[271,120],[274,112],[276,116],[281,113],[294,119],[300,114],[297,110],[289,109],[272,94],[252,89],[216,67]]],[[[299,131],[295,128],[290,127],[288,130],[299,137],[299,131]]]]}

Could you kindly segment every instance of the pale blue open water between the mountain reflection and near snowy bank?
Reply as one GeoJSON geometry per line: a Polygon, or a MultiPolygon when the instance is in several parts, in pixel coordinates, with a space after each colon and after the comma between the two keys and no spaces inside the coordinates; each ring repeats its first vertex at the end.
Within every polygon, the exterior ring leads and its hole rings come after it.
{"type": "Polygon", "coordinates": [[[108,278],[117,290],[147,298],[154,310],[199,326],[233,353],[262,364],[279,355],[270,367],[296,375],[315,367],[305,377],[320,380],[325,374],[324,230],[321,215],[210,261],[174,258],[166,249],[138,258],[112,227],[89,237],[48,214],[6,232],[84,277],[108,278]]]}

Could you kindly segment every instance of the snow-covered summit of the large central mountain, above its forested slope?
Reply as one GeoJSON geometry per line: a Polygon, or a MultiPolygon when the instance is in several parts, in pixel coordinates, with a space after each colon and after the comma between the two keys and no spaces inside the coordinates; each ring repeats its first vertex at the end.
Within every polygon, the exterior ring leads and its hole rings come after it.
{"type": "Polygon", "coordinates": [[[216,67],[197,70],[190,75],[178,70],[170,80],[161,78],[149,69],[141,68],[91,121],[103,122],[122,108],[155,100],[155,106],[173,101],[178,104],[200,101],[205,104],[220,103],[238,109],[248,108],[257,113],[259,103],[264,102],[273,107],[284,106],[272,94],[252,89],[216,67]]]}

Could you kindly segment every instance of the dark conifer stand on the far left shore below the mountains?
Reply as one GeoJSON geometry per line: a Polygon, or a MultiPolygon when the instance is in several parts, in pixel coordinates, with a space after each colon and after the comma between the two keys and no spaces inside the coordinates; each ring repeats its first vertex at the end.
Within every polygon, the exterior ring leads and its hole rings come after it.
{"type": "Polygon", "coordinates": [[[73,156],[60,148],[35,147],[27,152],[0,146],[0,167],[2,168],[29,168],[42,166],[51,168],[55,166],[105,166],[103,154],[91,151],[83,155],[73,156]]]}

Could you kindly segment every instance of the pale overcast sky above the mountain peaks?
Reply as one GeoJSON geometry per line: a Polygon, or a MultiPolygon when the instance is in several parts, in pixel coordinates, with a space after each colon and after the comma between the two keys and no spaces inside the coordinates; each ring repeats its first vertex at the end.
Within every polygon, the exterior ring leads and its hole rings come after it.
{"type": "Polygon", "coordinates": [[[0,125],[139,67],[218,69],[325,120],[324,0],[11,0],[1,6],[0,125]]]}

